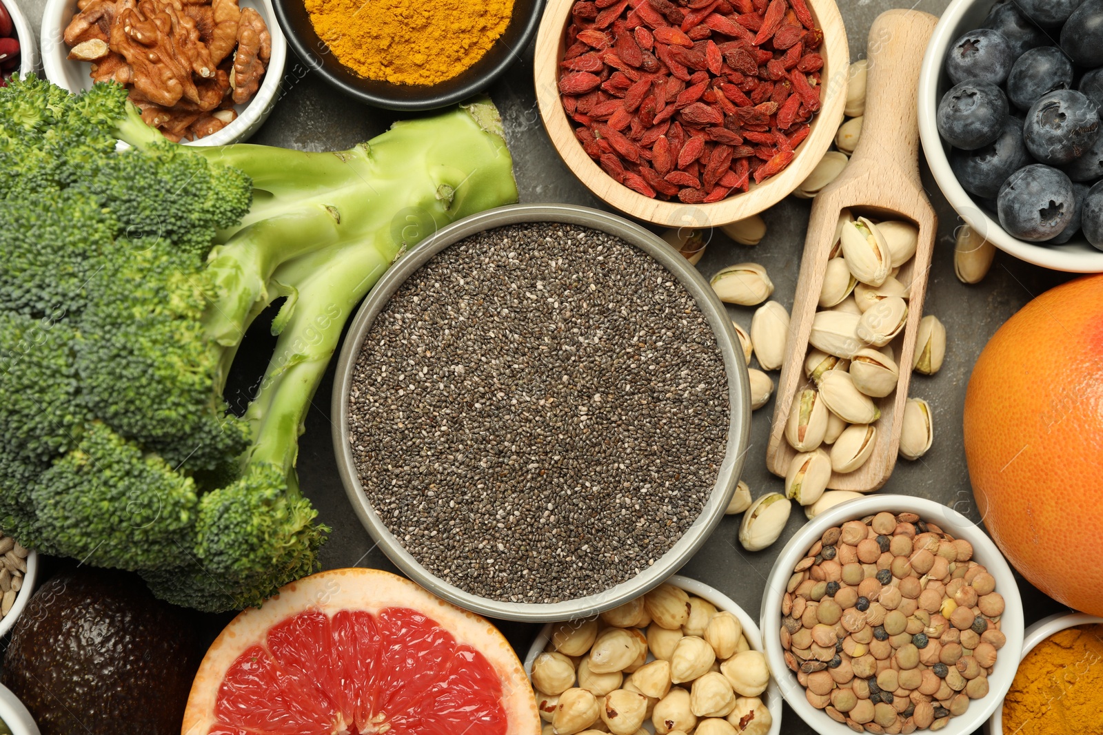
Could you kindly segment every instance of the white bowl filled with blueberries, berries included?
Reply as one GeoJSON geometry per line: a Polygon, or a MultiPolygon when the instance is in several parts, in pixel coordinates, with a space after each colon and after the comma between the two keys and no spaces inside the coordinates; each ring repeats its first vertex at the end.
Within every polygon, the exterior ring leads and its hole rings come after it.
{"type": "Polygon", "coordinates": [[[923,58],[923,150],[978,234],[1103,272],[1103,0],[954,0],[923,58]]]}

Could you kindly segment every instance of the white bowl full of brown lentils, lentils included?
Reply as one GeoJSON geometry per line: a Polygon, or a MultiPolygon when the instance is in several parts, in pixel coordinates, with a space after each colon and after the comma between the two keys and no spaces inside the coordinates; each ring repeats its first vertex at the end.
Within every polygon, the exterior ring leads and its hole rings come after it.
{"type": "Polygon", "coordinates": [[[817,733],[966,735],[1011,685],[1024,614],[977,525],[884,495],[831,508],[790,539],[760,627],[785,701],[817,733]]]}

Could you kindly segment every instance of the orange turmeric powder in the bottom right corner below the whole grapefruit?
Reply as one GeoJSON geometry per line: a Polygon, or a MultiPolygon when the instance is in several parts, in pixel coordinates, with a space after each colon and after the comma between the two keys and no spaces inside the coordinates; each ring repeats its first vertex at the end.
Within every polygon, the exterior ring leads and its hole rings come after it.
{"type": "Polygon", "coordinates": [[[1002,735],[1103,735],[1103,625],[1054,633],[1027,653],[1002,735]]]}

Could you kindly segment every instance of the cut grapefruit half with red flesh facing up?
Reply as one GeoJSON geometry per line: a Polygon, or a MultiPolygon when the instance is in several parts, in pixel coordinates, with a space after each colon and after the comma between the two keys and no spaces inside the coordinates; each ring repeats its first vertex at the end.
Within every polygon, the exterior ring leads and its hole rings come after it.
{"type": "Polygon", "coordinates": [[[538,735],[490,623],[403,577],[342,569],[239,614],[207,650],[184,735],[538,735]]]}

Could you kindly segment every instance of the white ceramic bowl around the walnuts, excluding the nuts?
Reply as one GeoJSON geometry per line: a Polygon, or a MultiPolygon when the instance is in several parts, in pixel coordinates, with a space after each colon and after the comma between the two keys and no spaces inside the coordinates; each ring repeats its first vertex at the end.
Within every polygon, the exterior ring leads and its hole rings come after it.
{"type": "MultiPolygon", "coordinates": [[[[287,62],[287,40],[280,31],[279,23],[276,22],[271,0],[242,0],[239,4],[242,8],[254,8],[259,12],[272,36],[272,53],[260,88],[247,105],[235,107],[237,118],[233,122],[206,138],[184,141],[185,145],[225,145],[248,140],[268,118],[277,101],[277,93],[283,77],[283,65],[287,62]]],[[[46,78],[69,91],[81,91],[92,87],[88,63],[69,61],[68,47],[62,39],[62,33],[73,20],[75,12],[76,0],[46,0],[46,8],[42,13],[42,65],[46,78]]]]}

